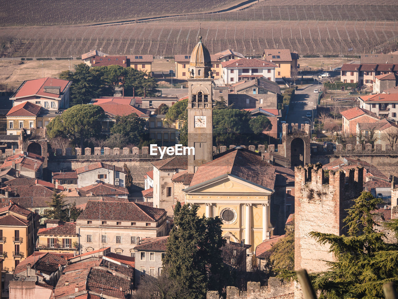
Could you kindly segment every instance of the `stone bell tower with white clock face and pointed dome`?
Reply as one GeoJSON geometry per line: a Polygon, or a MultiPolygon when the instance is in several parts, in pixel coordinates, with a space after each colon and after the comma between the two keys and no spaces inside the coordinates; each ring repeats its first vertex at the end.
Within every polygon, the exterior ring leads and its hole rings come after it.
{"type": "Polygon", "coordinates": [[[188,146],[195,155],[188,156],[188,172],[213,159],[213,79],[210,75],[211,59],[202,37],[191,54],[188,79],[188,146]]]}

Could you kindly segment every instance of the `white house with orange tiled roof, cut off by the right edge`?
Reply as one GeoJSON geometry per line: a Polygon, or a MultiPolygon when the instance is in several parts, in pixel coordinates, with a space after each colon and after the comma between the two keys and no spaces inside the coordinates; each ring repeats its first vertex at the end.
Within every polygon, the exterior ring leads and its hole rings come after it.
{"type": "Polygon", "coordinates": [[[361,108],[375,113],[378,117],[398,120],[398,94],[371,94],[359,96],[358,100],[361,108]]]}

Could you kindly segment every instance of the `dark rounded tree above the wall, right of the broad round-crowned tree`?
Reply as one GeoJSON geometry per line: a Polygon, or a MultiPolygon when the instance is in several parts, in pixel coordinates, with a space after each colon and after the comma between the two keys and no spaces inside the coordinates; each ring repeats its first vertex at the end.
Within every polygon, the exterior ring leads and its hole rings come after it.
{"type": "Polygon", "coordinates": [[[149,132],[145,126],[145,120],[139,118],[136,113],[116,116],[115,124],[111,128],[111,133],[126,136],[131,144],[138,146],[144,140],[149,140],[149,132]]]}

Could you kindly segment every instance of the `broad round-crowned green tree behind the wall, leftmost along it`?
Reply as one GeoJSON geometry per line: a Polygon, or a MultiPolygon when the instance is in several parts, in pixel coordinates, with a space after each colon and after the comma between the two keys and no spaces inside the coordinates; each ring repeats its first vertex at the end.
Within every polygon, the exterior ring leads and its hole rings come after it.
{"type": "Polygon", "coordinates": [[[80,104],[66,109],[47,125],[49,138],[64,136],[83,144],[88,138],[101,134],[101,120],[105,117],[103,109],[98,105],[80,104]]]}

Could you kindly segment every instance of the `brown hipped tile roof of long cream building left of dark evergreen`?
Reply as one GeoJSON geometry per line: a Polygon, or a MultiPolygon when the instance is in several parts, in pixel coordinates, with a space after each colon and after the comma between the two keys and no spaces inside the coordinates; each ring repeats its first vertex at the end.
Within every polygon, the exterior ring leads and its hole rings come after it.
{"type": "Polygon", "coordinates": [[[78,219],[156,222],[166,211],[133,202],[88,201],[78,219]]]}

